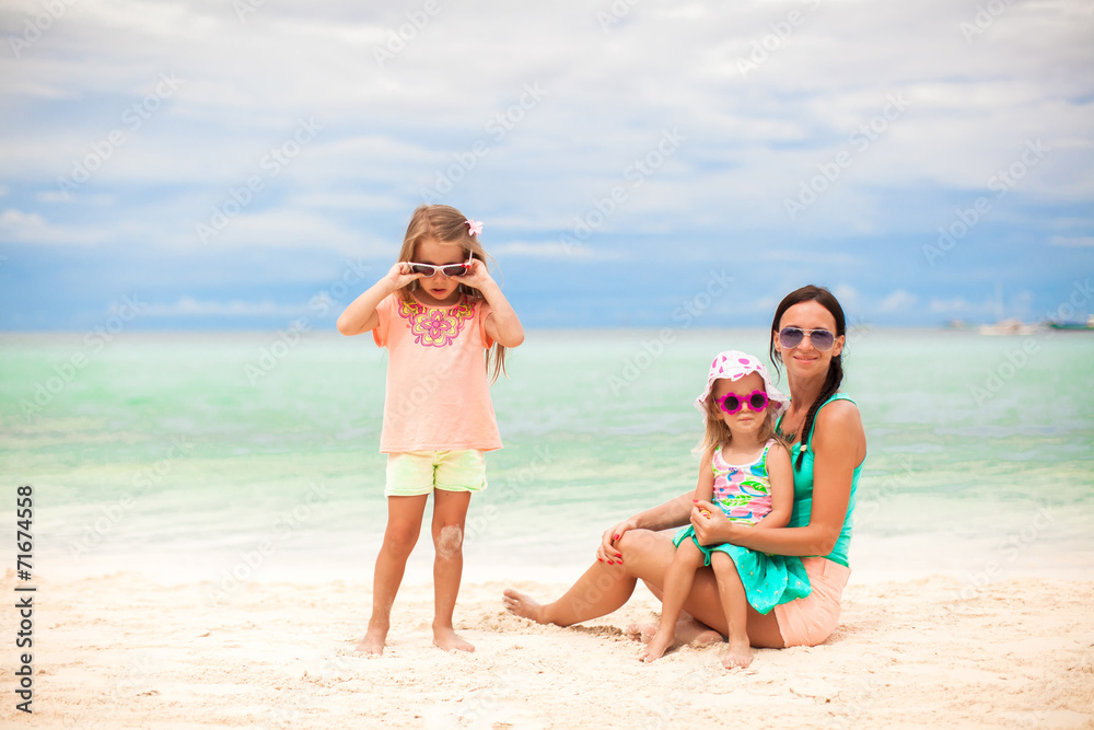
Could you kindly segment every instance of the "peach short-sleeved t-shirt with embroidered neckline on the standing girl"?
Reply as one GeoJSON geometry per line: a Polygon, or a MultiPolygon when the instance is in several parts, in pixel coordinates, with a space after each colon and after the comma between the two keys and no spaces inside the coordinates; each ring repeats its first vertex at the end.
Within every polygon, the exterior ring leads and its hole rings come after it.
{"type": "Polygon", "coordinates": [[[387,394],[381,453],[501,448],[490,402],[484,323],[490,305],[466,294],[452,306],[389,294],[372,331],[386,347],[387,394]]]}

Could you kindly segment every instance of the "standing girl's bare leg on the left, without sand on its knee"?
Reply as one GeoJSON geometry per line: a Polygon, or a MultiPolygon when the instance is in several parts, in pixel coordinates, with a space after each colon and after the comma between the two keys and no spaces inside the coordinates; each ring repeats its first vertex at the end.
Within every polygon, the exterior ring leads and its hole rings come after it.
{"type": "Polygon", "coordinates": [[[387,498],[387,530],[384,531],[384,544],[376,556],[372,579],[372,617],[369,630],[356,651],[370,654],[384,652],[387,630],[392,625],[392,604],[403,582],[407,558],[418,542],[426,498],[427,495],[387,498]]]}

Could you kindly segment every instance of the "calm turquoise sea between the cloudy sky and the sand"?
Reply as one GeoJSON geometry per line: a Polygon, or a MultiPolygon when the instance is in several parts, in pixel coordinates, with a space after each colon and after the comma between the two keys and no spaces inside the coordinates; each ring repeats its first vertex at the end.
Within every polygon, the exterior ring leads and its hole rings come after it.
{"type": "MultiPolygon", "coordinates": [[[[691,401],[731,348],[766,356],[766,333],[528,333],[493,386],[505,448],[465,580],[570,578],[602,530],[694,488],[691,401]]],[[[368,336],[0,335],[0,537],[30,484],[39,576],[371,581],[385,368],[368,336]]],[[[1094,578],[1094,336],[857,331],[846,370],[857,571],[1094,578]]],[[[427,529],[411,576],[431,553],[427,529]]]]}

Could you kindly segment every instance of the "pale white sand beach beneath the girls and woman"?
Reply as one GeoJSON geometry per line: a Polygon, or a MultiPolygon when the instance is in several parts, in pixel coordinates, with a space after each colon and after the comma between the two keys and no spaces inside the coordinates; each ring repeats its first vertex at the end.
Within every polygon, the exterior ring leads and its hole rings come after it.
{"type": "MultiPolygon", "coordinates": [[[[9,595],[15,586],[9,571],[9,595]]],[[[625,634],[655,616],[640,588],[587,625],[538,626],[501,592],[465,584],[456,627],[472,654],[431,646],[432,588],[400,591],[382,658],[354,654],[370,587],[212,584],[137,572],[43,581],[34,598],[33,717],[5,692],[4,727],[676,728],[1094,727],[1094,581],[1012,578],[979,590],[934,576],[856,582],[823,646],[759,650],[724,671],[720,648],[638,661],[625,634]]],[[[15,612],[3,612],[13,636],[15,612]]],[[[0,656],[11,677],[14,647],[0,656]]],[[[11,685],[11,681],[5,682],[11,685]]]]}

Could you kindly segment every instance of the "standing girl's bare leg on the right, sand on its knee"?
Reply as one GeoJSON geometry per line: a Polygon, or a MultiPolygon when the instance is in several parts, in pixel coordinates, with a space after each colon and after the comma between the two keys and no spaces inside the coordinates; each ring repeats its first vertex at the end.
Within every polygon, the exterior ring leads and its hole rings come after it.
{"type": "Polygon", "coordinates": [[[433,644],[445,651],[475,651],[452,627],[464,571],[464,523],[472,493],[433,490],[433,644]]]}

